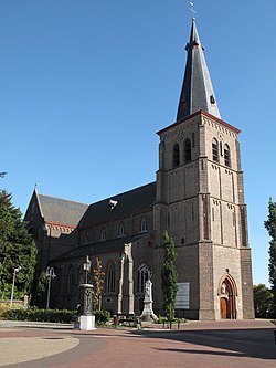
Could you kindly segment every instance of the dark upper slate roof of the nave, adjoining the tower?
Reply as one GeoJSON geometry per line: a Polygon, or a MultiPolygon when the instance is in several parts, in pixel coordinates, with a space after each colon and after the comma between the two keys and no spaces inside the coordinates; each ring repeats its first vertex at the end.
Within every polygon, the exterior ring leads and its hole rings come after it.
{"type": "Polygon", "coordinates": [[[93,224],[104,223],[116,218],[139,213],[152,209],[156,201],[156,182],[109,197],[89,206],[79,228],[89,228],[93,224]],[[114,209],[108,206],[109,200],[117,201],[114,209]]]}

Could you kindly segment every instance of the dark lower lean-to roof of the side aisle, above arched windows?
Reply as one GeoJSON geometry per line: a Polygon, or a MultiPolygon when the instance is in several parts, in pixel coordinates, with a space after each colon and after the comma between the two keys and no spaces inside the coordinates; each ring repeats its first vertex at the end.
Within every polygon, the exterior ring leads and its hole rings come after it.
{"type": "Polygon", "coordinates": [[[73,250],[63,253],[62,255],[56,257],[54,262],[85,257],[86,255],[93,256],[103,253],[118,253],[124,250],[125,244],[137,242],[141,238],[147,235],[148,233],[136,234],[131,236],[116,238],[113,240],[102,241],[88,245],[76,246],[73,250]]]}

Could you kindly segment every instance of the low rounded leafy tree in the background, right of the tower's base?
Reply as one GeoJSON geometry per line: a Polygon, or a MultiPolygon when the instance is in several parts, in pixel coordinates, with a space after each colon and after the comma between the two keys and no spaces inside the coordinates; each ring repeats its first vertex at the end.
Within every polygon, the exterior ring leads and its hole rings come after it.
{"type": "Polygon", "coordinates": [[[256,317],[267,317],[273,313],[273,293],[265,284],[253,285],[256,317]]]}

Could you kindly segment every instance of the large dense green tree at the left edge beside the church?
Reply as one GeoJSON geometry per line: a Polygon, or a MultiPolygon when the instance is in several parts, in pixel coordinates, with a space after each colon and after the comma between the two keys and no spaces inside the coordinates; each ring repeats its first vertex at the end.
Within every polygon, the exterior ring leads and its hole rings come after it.
{"type": "Polygon", "coordinates": [[[36,263],[36,248],[28,234],[22,214],[12,204],[12,197],[0,190],[0,297],[11,295],[14,269],[21,266],[15,275],[14,297],[29,294],[36,263]]]}

